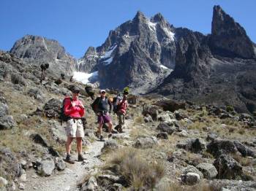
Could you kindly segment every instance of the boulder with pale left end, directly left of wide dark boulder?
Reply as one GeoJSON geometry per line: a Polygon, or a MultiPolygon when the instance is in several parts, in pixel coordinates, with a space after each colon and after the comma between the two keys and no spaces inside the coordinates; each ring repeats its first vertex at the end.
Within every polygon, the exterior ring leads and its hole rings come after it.
{"type": "Polygon", "coordinates": [[[185,141],[181,141],[180,143],[176,144],[176,147],[180,149],[185,149],[187,151],[199,153],[202,152],[203,149],[206,149],[206,144],[202,139],[187,139],[185,141]]]}

